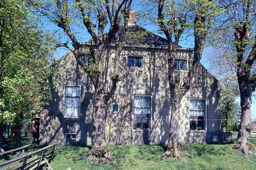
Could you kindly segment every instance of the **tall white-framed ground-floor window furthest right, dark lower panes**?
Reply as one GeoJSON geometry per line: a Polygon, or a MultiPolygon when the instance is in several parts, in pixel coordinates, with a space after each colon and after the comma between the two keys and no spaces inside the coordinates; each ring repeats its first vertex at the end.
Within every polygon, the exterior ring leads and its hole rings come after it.
{"type": "Polygon", "coordinates": [[[190,99],[189,114],[190,130],[204,130],[205,100],[190,99]]]}

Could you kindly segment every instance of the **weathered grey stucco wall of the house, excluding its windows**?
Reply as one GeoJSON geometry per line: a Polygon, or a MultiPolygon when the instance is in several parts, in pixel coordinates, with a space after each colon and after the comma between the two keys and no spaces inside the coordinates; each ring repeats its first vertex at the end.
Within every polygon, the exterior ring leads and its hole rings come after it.
{"type": "MultiPolygon", "coordinates": [[[[81,49],[84,50],[86,48],[81,49]]],[[[113,74],[114,48],[109,46],[106,52],[104,68],[108,69],[105,83],[111,85],[110,75],[113,74]]],[[[117,90],[108,102],[106,112],[106,142],[109,145],[158,145],[164,144],[168,138],[170,124],[170,90],[166,48],[148,46],[125,46],[118,61],[118,73],[121,81],[117,90]],[[127,67],[128,56],[143,57],[141,68],[127,67]],[[150,128],[134,129],[134,96],[151,97],[150,128]],[[118,104],[118,112],[112,112],[112,104],[118,104]]],[[[180,48],[176,58],[187,59],[188,67],[191,62],[191,51],[180,48]]],[[[58,143],[61,145],[73,143],[79,145],[93,144],[93,86],[90,79],[78,65],[72,53],[68,53],[55,62],[55,74],[49,78],[54,84],[48,89],[51,99],[45,103],[44,111],[40,114],[41,144],[58,143]],[[80,87],[79,117],[64,115],[64,87],[80,87]],[[67,134],[75,134],[75,138],[67,138],[67,134]]],[[[186,71],[175,71],[174,74],[183,79],[186,71]]],[[[220,134],[220,112],[218,101],[217,80],[203,67],[197,67],[193,85],[180,103],[179,114],[180,141],[183,143],[210,142],[212,137],[220,134]],[[189,100],[204,99],[204,130],[189,128],[189,100]]],[[[109,90],[109,89],[108,89],[109,90]]]]}

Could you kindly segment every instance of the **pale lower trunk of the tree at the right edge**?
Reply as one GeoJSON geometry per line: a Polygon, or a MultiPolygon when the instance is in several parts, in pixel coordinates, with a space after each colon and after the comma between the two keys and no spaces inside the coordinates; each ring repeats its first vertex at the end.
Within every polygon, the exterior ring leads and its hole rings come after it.
{"type": "Polygon", "coordinates": [[[251,97],[246,92],[241,93],[241,123],[240,130],[237,136],[237,148],[244,154],[248,154],[250,151],[254,151],[249,145],[250,131],[253,129],[253,123],[251,122],[251,97]]]}

